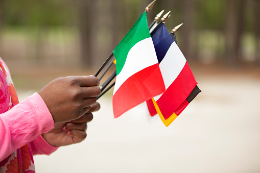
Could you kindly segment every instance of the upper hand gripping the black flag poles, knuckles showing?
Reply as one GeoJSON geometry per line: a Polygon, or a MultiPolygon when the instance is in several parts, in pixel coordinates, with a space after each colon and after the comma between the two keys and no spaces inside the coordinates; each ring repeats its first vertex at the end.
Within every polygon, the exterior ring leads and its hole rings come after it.
{"type": "Polygon", "coordinates": [[[98,78],[94,76],[60,77],[39,92],[50,110],[54,123],[78,119],[89,111],[100,94],[98,78]]]}

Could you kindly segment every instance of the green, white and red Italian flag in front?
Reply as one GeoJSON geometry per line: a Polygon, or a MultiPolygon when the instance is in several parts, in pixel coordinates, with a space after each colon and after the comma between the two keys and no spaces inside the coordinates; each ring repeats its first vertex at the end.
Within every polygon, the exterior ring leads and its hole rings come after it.
{"type": "Polygon", "coordinates": [[[114,118],[165,91],[146,12],[115,47],[114,118]]]}

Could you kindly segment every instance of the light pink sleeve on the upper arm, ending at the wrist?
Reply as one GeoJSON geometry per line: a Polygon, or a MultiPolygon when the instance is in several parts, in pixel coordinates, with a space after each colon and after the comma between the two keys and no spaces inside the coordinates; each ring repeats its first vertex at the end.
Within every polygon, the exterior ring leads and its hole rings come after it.
{"type": "Polygon", "coordinates": [[[38,93],[0,114],[0,161],[53,128],[52,115],[38,93]]]}

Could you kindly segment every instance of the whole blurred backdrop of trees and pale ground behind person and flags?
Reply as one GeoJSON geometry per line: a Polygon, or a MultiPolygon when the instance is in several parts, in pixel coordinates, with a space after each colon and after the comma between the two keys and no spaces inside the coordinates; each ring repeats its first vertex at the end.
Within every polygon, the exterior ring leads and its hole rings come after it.
{"type": "MultiPolygon", "coordinates": [[[[0,0],[0,56],[20,102],[57,77],[94,75],[149,3],[0,0]]],[[[165,128],[148,125],[144,105],[113,119],[111,90],[88,138],[36,156],[36,171],[259,172],[259,9],[258,0],[157,0],[148,23],[161,10],[172,11],[169,32],[183,23],[177,42],[202,93],[165,128]]]]}

